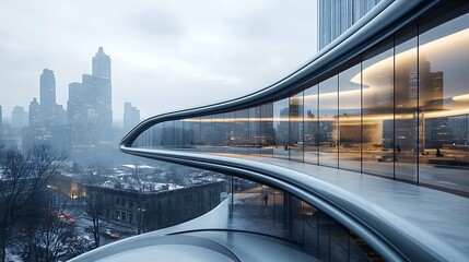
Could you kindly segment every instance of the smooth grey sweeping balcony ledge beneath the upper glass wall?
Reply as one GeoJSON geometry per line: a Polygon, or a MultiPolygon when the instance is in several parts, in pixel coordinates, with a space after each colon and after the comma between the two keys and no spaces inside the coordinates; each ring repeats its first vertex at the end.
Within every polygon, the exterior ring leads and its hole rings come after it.
{"type": "Polygon", "coordinates": [[[469,236],[464,234],[469,228],[469,200],[461,196],[281,159],[150,148],[122,147],[122,151],[243,177],[290,192],[328,213],[389,261],[469,258],[469,236]]]}

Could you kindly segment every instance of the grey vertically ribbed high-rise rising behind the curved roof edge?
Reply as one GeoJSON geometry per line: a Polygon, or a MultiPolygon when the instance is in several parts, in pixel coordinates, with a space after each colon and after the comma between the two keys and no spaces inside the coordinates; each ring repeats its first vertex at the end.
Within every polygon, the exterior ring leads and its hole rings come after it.
{"type": "Polygon", "coordinates": [[[319,0],[319,50],[333,41],[380,0],[319,0]]]}

